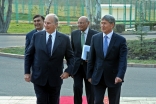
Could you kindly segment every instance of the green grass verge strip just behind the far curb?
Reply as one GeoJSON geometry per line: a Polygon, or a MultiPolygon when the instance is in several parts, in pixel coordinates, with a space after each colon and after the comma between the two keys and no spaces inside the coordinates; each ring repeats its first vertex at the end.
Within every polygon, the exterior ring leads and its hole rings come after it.
{"type": "MultiPolygon", "coordinates": [[[[0,52],[24,55],[24,47],[1,48],[0,52]]],[[[156,60],[128,60],[128,63],[156,64],[156,60]]]]}

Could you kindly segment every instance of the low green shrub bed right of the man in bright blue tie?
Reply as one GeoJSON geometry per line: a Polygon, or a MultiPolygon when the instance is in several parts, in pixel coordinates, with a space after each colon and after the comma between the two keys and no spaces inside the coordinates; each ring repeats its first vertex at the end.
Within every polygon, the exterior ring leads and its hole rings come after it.
{"type": "Polygon", "coordinates": [[[144,41],[128,40],[127,46],[129,59],[156,59],[156,39],[144,39],[144,41]]]}

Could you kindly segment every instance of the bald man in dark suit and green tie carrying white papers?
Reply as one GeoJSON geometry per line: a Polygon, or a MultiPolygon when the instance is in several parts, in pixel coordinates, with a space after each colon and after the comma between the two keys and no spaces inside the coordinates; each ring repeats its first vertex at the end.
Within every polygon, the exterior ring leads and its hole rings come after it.
{"type": "Polygon", "coordinates": [[[91,84],[86,79],[87,60],[81,59],[83,45],[90,46],[91,38],[98,33],[90,29],[89,20],[86,16],[78,19],[78,30],[71,33],[71,44],[74,51],[75,64],[73,69],[74,79],[74,104],[82,104],[83,80],[88,104],[94,104],[94,95],[91,84]]]}

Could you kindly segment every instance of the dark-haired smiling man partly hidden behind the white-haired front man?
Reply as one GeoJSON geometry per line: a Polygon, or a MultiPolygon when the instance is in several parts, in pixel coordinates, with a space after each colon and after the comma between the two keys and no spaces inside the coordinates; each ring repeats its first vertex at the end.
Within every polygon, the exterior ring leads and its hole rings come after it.
{"type": "Polygon", "coordinates": [[[31,38],[33,36],[33,34],[35,32],[38,32],[38,31],[42,31],[44,29],[44,17],[41,16],[41,15],[35,15],[33,17],[33,23],[34,23],[34,27],[35,29],[30,31],[27,35],[26,35],[26,42],[25,42],[25,51],[28,49],[29,47],[29,44],[30,44],[30,41],[31,41],[31,38]]]}

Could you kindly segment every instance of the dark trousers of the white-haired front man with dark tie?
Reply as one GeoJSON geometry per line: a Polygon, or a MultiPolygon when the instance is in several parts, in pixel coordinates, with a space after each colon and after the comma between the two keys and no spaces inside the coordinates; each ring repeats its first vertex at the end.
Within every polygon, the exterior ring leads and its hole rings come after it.
{"type": "Polygon", "coordinates": [[[37,104],[59,104],[61,86],[51,87],[48,83],[45,86],[34,84],[37,97],[37,104]]]}

